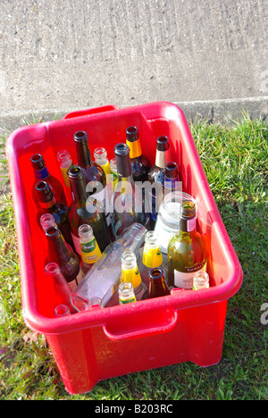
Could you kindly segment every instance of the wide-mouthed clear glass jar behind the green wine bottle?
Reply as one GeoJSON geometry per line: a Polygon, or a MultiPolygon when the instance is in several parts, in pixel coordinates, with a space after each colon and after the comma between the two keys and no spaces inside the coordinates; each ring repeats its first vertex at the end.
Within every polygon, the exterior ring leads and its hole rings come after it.
{"type": "Polygon", "coordinates": [[[167,263],[168,245],[172,236],[180,230],[180,206],[184,201],[195,202],[195,199],[184,192],[168,193],[163,198],[155,223],[163,263],[167,263]]]}

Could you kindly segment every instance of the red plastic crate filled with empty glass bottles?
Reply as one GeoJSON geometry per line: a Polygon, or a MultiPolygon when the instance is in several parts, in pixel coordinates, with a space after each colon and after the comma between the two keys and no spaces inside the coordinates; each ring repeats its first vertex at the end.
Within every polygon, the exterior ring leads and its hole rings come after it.
{"type": "Polygon", "coordinates": [[[21,264],[23,317],[31,330],[44,334],[65,388],[88,392],[99,380],[182,362],[202,367],[222,358],[228,299],[242,284],[242,270],[205,178],[184,114],[178,106],[156,102],[120,109],[104,106],[68,114],[15,130],[7,141],[7,158],[21,264]],[[172,296],[53,318],[44,272],[46,238],[37,228],[31,196],[34,181],[30,156],[44,155],[48,170],[62,179],[57,152],[68,149],[76,163],[73,135],[86,130],[89,147],[125,142],[125,131],[138,126],[142,149],[155,163],[155,141],[171,139],[172,159],[179,163],[183,188],[197,199],[198,229],[211,243],[208,272],[211,288],[174,291],[172,296]]]}

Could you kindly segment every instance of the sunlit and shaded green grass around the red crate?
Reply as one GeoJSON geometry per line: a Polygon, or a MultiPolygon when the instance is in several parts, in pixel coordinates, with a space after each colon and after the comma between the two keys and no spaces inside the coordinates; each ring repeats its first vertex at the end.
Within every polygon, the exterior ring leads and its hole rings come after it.
{"type": "MultiPolygon", "coordinates": [[[[100,382],[87,395],[69,395],[46,341],[23,323],[13,205],[7,193],[0,202],[0,399],[268,399],[268,328],[261,322],[262,305],[268,302],[267,124],[251,121],[245,113],[230,126],[203,121],[191,130],[244,272],[243,286],[228,305],[222,362],[206,369],[186,363],[138,372],[100,382]]],[[[6,182],[6,167],[3,175],[6,182]]]]}

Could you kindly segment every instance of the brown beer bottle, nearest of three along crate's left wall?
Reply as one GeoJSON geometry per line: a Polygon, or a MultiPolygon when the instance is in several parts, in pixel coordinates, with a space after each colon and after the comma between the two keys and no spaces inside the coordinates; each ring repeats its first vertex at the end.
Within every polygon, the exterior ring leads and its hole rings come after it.
{"type": "Polygon", "coordinates": [[[71,253],[65,246],[63,235],[57,227],[50,227],[46,230],[46,239],[48,243],[46,264],[57,263],[63,277],[73,291],[82,279],[78,256],[71,253]]]}

